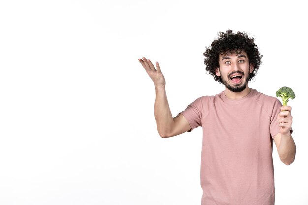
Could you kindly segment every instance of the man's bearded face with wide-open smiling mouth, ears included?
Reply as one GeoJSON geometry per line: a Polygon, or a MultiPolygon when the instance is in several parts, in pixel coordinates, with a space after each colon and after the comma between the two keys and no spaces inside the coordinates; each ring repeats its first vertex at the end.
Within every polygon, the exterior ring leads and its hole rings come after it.
{"type": "Polygon", "coordinates": [[[220,54],[219,66],[220,68],[216,69],[216,75],[221,76],[226,88],[232,92],[242,92],[247,87],[253,65],[249,64],[246,52],[220,54]]]}

